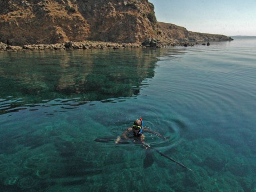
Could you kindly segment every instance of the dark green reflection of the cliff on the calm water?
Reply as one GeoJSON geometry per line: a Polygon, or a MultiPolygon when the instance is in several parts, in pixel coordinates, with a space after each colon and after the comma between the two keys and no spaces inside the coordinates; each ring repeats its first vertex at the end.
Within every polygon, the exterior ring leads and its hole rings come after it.
{"type": "Polygon", "coordinates": [[[55,99],[83,104],[139,95],[159,55],[150,49],[3,53],[1,113],[55,99]]]}

